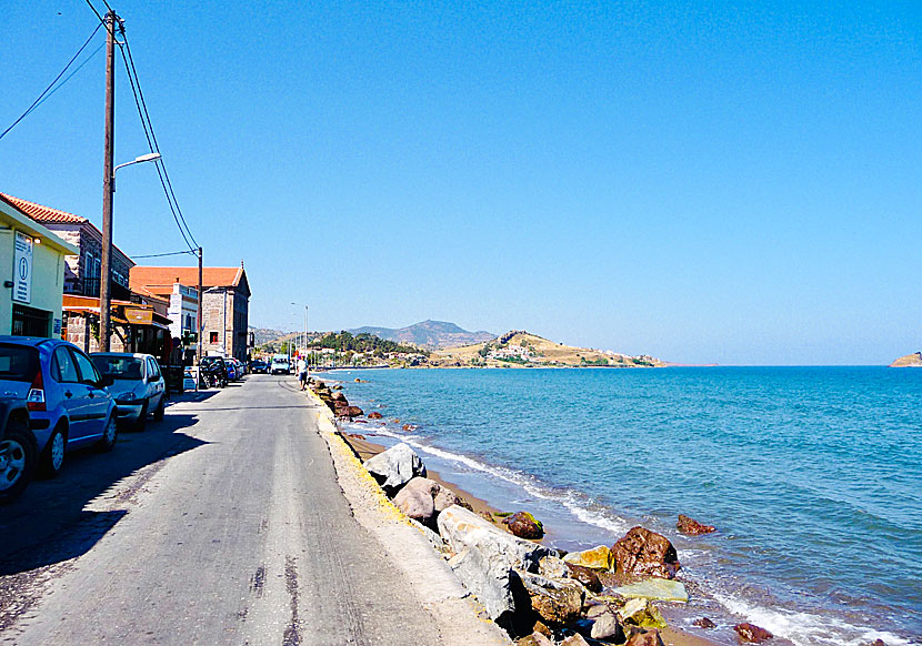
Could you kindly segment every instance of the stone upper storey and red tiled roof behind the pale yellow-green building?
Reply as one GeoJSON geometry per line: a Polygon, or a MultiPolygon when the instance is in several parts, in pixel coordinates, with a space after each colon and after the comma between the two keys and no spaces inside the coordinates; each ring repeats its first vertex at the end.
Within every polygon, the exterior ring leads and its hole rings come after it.
{"type": "MultiPolygon", "coordinates": [[[[0,193],[0,199],[6,200],[77,248],[77,253],[68,255],[66,259],[64,293],[98,299],[100,274],[102,273],[102,232],[82,215],[74,215],[51,206],[42,206],[4,193],[0,193]]],[[[134,263],[113,244],[111,265],[111,297],[113,300],[130,301],[131,293],[128,289],[128,276],[134,263]]]]}

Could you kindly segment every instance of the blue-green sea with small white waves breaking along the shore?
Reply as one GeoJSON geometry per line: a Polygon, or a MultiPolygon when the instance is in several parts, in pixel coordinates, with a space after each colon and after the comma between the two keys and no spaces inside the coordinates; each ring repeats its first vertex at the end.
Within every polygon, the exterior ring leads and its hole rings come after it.
{"type": "Polygon", "coordinates": [[[532,512],[550,545],[612,545],[635,525],[665,535],[691,595],[664,608],[680,628],[725,644],[739,622],[798,646],[922,644],[922,370],[324,376],[383,415],[344,430],[405,442],[444,480],[532,512]],[[716,532],[684,536],[679,514],[716,532]],[[702,616],[718,627],[694,628],[702,616]]]}

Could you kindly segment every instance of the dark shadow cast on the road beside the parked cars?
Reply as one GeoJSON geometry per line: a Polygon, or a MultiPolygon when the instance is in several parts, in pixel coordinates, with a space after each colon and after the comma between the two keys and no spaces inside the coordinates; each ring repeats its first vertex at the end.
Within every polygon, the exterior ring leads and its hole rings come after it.
{"type": "Polygon", "coordinates": [[[133,495],[171,457],[207,444],[182,432],[197,422],[197,415],[172,413],[168,408],[163,421],[149,422],[147,431],[119,433],[111,453],[97,453],[92,448],[68,453],[58,477],[33,480],[18,501],[0,507],[0,545],[3,546],[0,576],[60,563],[88,552],[128,514],[133,495]],[[148,466],[127,486],[113,487],[148,466]],[[110,488],[111,492],[100,497],[110,488]],[[100,506],[110,508],[84,508],[98,497],[100,506]]]}

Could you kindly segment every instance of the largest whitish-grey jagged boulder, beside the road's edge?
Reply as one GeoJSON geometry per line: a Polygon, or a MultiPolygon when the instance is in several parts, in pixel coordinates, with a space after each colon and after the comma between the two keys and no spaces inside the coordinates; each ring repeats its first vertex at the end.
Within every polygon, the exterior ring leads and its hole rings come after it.
{"type": "Polygon", "coordinates": [[[485,518],[452,505],[437,518],[439,535],[455,556],[449,561],[491,619],[515,610],[512,569],[533,573],[542,557],[557,552],[503,532],[485,518]]]}

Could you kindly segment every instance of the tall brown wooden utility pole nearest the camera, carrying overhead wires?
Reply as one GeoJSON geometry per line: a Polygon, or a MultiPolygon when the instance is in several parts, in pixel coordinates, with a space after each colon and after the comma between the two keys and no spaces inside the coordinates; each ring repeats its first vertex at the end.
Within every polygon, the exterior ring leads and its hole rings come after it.
{"type": "Polygon", "coordinates": [[[114,171],[112,168],[116,149],[116,12],[109,10],[103,19],[106,24],[106,154],[102,163],[102,268],[99,276],[99,346],[102,352],[110,349],[109,314],[112,297],[109,280],[112,274],[112,193],[114,171]]]}

